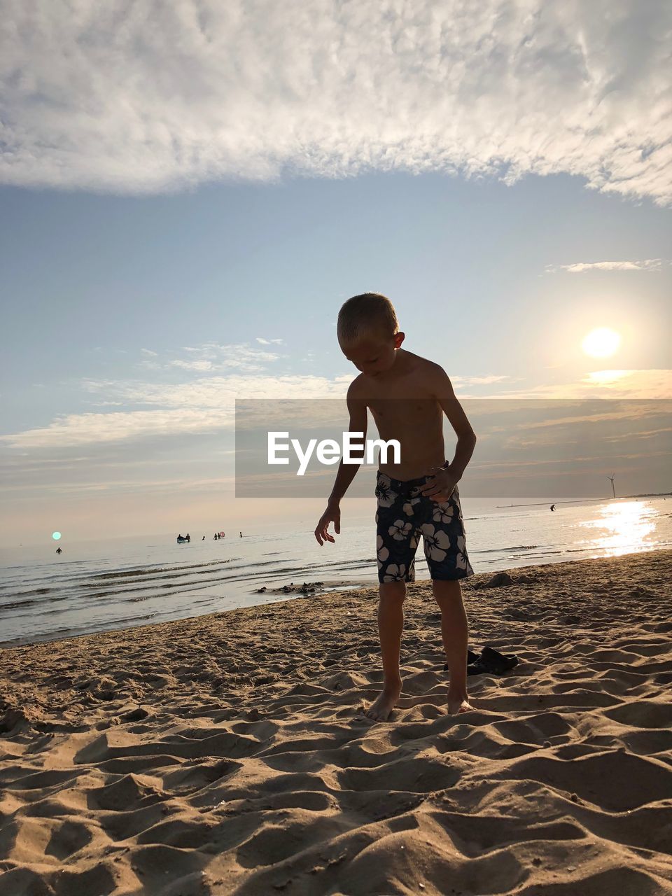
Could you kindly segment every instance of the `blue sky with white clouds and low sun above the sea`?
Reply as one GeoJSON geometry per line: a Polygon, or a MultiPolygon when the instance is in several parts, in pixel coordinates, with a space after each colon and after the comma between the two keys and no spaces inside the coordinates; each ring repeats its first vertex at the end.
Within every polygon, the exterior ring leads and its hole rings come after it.
{"type": "Polygon", "coordinates": [[[669,4],[4,8],[4,544],[316,522],[235,498],[235,401],[342,399],[365,291],[475,409],[658,402],[609,465],[670,490],[669,4]]]}

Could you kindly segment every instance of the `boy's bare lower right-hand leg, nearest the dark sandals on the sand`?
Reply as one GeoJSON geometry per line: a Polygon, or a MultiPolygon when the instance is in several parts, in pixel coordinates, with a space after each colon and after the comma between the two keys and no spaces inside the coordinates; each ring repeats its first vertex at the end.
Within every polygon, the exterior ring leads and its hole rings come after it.
{"type": "Polygon", "coordinates": [[[467,694],[467,614],[462,603],[460,580],[432,580],[436,603],[441,609],[441,634],[445,658],[450,670],[448,713],[466,712],[470,706],[467,694]]]}

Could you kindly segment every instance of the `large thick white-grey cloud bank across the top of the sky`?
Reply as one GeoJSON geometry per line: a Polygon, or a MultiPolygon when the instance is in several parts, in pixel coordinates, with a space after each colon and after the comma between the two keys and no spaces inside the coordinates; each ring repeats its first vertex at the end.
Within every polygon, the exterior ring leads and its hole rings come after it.
{"type": "Polygon", "coordinates": [[[7,0],[3,17],[5,184],[567,173],[672,200],[663,0],[7,0]]]}

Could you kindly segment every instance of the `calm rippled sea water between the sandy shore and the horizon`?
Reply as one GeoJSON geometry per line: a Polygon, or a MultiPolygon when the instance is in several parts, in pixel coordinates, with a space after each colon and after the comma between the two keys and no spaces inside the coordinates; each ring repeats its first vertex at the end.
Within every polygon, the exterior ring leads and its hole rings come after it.
{"type": "MultiPolygon", "coordinates": [[[[531,501],[462,496],[474,572],[672,547],[669,497],[557,503],[554,512],[551,501],[531,501]]],[[[64,540],[61,555],[50,539],[44,547],[0,550],[0,644],[297,599],[272,591],[290,583],[323,582],[301,598],[314,600],[323,590],[377,583],[373,519],[343,520],[335,544],[323,547],[312,529],[300,527],[219,540],[209,534],[204,541],[202,532],[194,532],[191,543],[181,545],[176,538],[177,533],[162,533],[64,540]]],[[[428,577],[420,544],[416,578],[428,577]]]]}

